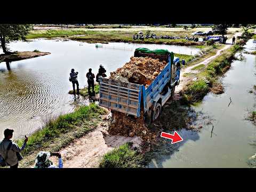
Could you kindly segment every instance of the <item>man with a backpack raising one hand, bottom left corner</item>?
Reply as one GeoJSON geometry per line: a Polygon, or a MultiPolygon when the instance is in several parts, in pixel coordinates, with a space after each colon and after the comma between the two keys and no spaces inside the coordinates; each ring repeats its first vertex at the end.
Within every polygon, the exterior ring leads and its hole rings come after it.
{"type": "Polygon", "coordinates": [[[0,143],[0,155],[5,159],[6,165],[11,169],[17,169],[19,161],[22,159],[21,151],[25,149],[28,138],[25,135],[25,141],[20,148],[15,142],[11,140],[13,130],[4,130],[4,139],[0,143]]]}

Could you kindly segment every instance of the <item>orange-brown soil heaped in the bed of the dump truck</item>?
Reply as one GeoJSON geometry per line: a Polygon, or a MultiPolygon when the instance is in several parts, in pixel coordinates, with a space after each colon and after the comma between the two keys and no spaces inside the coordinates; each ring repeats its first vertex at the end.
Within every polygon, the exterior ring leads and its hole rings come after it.
{"type": "Polygon", "coordinates": [[[164,69],[166,61],[148,57],[131,57],[122,68],[110,73],[110,78],[118,81],[150,85],[156,76],[164,69]]]}

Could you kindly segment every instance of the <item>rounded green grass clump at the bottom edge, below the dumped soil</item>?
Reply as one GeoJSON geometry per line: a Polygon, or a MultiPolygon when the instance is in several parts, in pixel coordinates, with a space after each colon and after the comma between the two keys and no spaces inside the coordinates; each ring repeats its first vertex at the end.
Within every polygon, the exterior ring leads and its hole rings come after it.
{"type": "Polygon", "coordinates": [[[109,151],[100,161],[100,168],[140,168],[144,159],[139,152],[130,148],[129,143],[109,151]]]}

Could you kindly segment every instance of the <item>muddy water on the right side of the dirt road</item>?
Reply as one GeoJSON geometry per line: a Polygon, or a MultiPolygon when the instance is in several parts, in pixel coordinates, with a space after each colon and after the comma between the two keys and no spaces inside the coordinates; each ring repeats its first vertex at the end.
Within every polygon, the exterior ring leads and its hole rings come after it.
{"type": "MultiPolygon", "coordinates": [[[[253,49],[255,43],[250,40],[245,51],[253,49]]],[[[180,130],[184,141],[173,145],[167,141],[154,152],[149,167],[253,166],[249,158],[256,153],[256,128],[244,118],[247,110],[255,110],[255,95],[248,91],[256,84],[256,56],[243,56],[245,59],[232,62],[231,69],[221,78],[225,93],[209,93],[193,107],[198,113],[194,123],[203,126],[201,132],[180,130]],[[211,124],[205,124],[209,119],[213,119],[213,131],[211,124]]]]}

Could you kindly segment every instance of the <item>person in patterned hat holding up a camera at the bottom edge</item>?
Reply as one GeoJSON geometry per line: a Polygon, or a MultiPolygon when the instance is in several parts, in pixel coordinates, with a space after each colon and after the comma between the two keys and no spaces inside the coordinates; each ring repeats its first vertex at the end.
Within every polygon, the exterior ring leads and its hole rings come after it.
{"type": "Polygon", "coordinates": [[[47,151],[40,151],[36,156],[36,165],[35,168],[63,168],[62,158],[60,153],[50,153],[47,151]],[[49,157],[57,156],[59,158],[59,165],[53,165],[49,157]]]}

